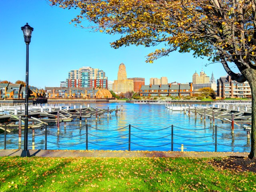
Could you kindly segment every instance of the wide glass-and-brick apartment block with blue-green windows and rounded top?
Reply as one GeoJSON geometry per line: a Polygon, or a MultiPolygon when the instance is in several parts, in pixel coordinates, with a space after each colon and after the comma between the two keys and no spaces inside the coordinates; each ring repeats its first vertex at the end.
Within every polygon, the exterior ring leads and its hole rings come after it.
{"type": "Polygon", "coordinates": [[[82,67],[68,72],[67,87],[108,88],[108,78],[105,72],[91,67],[82,67]]]}

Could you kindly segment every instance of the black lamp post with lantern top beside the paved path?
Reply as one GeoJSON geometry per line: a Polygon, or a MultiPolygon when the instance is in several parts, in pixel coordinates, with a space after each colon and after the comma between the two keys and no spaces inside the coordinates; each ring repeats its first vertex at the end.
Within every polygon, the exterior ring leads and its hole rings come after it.
{"type": "Polygon", "coordinates": [[[22,150],[22,157],[29,157],[30,153],[28,150],[28,46],[31,40],[31,34],[34,28],[30,27],[28,23],[21,27],[24,34],[24,41],[27,46],[26,54],[26,95],[25,95],[25,128],[24,128],[24,150],[22,150]]]}

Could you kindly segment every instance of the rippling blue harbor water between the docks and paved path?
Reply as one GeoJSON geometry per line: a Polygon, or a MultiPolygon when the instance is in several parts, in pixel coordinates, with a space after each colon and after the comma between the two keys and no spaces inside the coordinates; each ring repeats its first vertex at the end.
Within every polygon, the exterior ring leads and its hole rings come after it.
{"type": "MultiPolygon", "coordinates": [[[[64,104],[63,104],[64,105],[64,104]]],[[[68,105],[68,104],[66,104],[68,105]]],[[[71,104],[71,108],[80,108],[80,104],[71,104]]],[[[86,104],[81,104],[87,107],[86,104]]],[[[215,127],[210,120],[195,119],[194,113],[188,116],[180,111],[168,110],[165,104],[131,104],[131,103],[90,103],[92,108],[110,109],[121,108],[123,112],[116,115],[112,113],[101,116],[96,121],[95,116],[87,118],[88,124],[88,150],[128,150],[129,124],[131,125],[131,150],[171,150],[171,126],[173,129],[173,150],[180,151],[184,144],[184,151],[215,151],[215,127]]],[[[222,124],[215,120],[217,129],[218,152],[250,152],[250,140],[247,140],[246,131],[240,126],[234,127],[232,136],[230,124],[222,124]]],[[[48,150],[85,150],[86,126],[82,120],[60,123],[60,132],[56,124],[48,125],[48,150]]],[[[35,130],[35,149],[45,149],[45,131],[35,130]]],[[[28,148],[32,149],[32,130],[28,131],[28,148]]],[[[18,132],[6,136],[6,149],[23,148],[18,144],[18,132]]],[[[4,148],[4,134],[0,134],[0,148],[4,148]]]]}

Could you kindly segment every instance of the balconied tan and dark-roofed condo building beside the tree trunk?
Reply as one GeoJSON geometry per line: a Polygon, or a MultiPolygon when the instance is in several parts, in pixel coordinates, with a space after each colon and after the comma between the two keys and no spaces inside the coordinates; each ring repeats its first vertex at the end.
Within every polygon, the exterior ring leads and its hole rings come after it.
{"type": "Polygon", "coordinates": [[[251,98],[252,92],[247,81],[238,83],[224,76],[217,80],[217,96],[220,98],[251,98]]]}

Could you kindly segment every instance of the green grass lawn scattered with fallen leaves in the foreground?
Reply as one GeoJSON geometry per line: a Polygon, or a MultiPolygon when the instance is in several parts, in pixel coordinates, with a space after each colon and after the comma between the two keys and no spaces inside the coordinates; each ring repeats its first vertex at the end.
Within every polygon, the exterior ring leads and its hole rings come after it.
{"type": "Polygon", "coordinates": [[[0,191],[256,190],[254,170],[232,166],[234,161],[232,158],[1,157],[0,191]],[[225,161],[226,166],[222,164],[225,161]]]}

